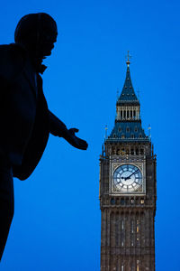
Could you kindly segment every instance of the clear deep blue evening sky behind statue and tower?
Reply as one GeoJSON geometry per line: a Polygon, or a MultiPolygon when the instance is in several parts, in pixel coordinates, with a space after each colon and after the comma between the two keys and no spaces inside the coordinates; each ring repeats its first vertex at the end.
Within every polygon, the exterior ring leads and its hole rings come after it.
{"type": "Polygon", "coordinates": [[[79,151],[50,136],[31,178],[14,180],[14,221],[2,271],[100,270],[99,154],[111,132],[125,55],[141,104],[142,126],[157,154],[156,266],[180,270],[178,1],[6,1],[1,44],[14,42],[24,14],[45,12],[58,23],[58,42],[45,62],[49,108],[78,127],[89,148],[79,151]]]}

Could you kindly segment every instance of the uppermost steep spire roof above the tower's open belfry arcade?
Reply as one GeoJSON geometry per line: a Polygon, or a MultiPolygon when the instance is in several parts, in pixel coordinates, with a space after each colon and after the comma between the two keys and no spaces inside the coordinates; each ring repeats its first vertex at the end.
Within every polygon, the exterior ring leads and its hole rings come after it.
{"type": "Polygon", "coordinates": [[[129,101],[139,102],[139,100],[134,92],[132,82],[130,79],[130,67],[129,67],[128,61],[127,61],[127,64],[128,64],[128,66],[127,66],[127,71],[126,71],[126,79],[124,82],[123,89],[121,91],[120,98],[118,99],[118,102],[120,102],[120,103],[121,102],[129,102],[129,101]]]}

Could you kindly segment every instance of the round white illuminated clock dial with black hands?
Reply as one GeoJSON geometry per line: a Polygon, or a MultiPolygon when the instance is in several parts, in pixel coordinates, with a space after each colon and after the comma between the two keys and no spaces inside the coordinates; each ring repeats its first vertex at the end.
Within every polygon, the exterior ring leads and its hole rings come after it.
{"type": "Polygon", "coordinates": [[[142,173],[133,164],[123,164],[113,173],[113,183],[120,192],[139,192],[142,188],[142,173]]]}

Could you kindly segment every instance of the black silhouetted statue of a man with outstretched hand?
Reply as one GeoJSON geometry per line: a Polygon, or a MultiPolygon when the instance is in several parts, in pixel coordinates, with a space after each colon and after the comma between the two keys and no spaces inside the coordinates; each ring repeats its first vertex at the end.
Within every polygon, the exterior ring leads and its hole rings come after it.
{"type": "Polygon", "coordinates": [[[28,14],[18,23],[15,43],[0,46],[0,258],[14,216],[13,176],[25,180],[40,161],[49,133],[85,150],[76,128],[67,126],[47,106],[40,73],[43,59],[57,41],[49,14],[28,14]]]}

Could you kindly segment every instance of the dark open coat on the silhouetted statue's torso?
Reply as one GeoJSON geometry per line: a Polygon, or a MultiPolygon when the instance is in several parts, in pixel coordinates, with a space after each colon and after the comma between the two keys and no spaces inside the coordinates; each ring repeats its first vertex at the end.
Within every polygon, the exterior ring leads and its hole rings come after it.
{"type": "Polygon", "coordinates": [[[33,172],[49,138],[49,109],[28,53],[17,44],[0,46],[0,155],[14,176],[33,172]]]}

